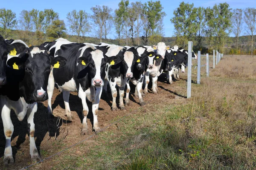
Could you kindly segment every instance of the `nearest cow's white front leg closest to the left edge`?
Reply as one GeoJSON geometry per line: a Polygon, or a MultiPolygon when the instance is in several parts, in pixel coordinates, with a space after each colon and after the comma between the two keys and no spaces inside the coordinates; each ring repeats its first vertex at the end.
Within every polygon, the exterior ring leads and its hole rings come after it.
{"type": "Polygon", "coordinates": [[[14,163],[14,159],[12,157],[12,146],[11,146],[11,137],[12,137],[14,128],[13,128],[13,124],[10,116],[11,109],[6,105],[3,105],[3,107],[1,108],[2,108],[1,117],[3,120],[3,131],[6,137],[6,146],[4,150],[3,164],[7,165],[7,164],[14,163]]]}

